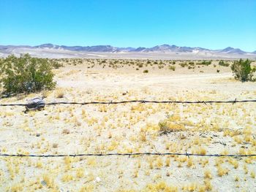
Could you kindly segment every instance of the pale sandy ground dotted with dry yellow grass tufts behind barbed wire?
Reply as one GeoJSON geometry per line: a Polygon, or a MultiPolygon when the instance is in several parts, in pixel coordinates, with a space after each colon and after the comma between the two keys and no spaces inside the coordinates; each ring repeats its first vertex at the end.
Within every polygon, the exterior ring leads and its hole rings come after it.
{"type": "MultiPolygon", "coordinates": [[[[195,69],[176,64],[175,71],[65,64],[54,71],[56,90],[1,103],[25,103],[42,94],[47,102],[256,98],[255,82],[233,80],[229,67],[214,64],[195,69]]],[[[24,114],[23,107],[1,107],[0,153],[255,154],[255,109],[255,103],[58,105],[24,114]],[[165,121],[173,131],[160,134],[159,122],[165,121]]],[[[0,191],[255,191],[255,160],[0,157],[0,191]]]]}

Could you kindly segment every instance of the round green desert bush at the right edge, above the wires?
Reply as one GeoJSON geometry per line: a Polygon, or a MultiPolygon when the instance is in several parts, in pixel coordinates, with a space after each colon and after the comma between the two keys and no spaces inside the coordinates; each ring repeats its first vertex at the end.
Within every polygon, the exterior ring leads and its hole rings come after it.
{"type": "Polygon", "coordinates": [[[251,63],[252,61],[249,61],[248,59],[240,59],[232,64],[231,70],[235,75],[236,80],[240,80],[241,82],[255,81],[255,79],[252,79],[252,77],[256,69],[252,69],[251,63]]]}

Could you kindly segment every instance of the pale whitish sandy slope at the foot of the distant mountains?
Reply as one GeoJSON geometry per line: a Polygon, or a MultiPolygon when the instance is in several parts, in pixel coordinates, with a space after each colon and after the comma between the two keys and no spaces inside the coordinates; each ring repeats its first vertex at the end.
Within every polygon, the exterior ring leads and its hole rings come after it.
{"type": "Polygon", "coordinates": [[[192,52],[192,53],[176,53],[176,52],[85,52],[85,51],[70,51],[61,49],[49,49],[49,48],[10,48],[9,50],[0,50],[1,57],[7,57],[10,54],[20,55],[29,53],[34,57],[39,58],[137,58],[137,59],[239,59],[250,58],[255,60],[256,55],[253,53],[236,54],[236,53],[217,53],[211,51],[192,52]]]}

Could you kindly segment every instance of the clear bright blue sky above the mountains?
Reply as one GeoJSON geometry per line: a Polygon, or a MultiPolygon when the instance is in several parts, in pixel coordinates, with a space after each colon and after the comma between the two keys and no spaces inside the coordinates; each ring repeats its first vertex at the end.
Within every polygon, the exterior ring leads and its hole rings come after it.
{"type": "Polygon", "coordinates": [[[256,50],[256,0],[0,0],[0,45],[256,50]]]}

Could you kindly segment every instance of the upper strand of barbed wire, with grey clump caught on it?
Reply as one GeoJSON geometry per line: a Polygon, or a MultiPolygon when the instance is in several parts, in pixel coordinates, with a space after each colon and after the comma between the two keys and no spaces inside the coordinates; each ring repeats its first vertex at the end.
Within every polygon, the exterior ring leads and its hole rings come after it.
{"type": "MultiPolygon", "coordinates": [[[[45,105],[57,105],[57,104],[126,104],[126,103],[156,103],[156,104],[235,104],[235,103],[246,103],[246,102],[256,102],[256,99],[249,100],[229,100],[229,101],[148,101],[148,100],[131,100],[131,101],[90,101],[90,102],[50,102],[45,103],[45,105]]],[[[27,104],[0,104],[0,107],[5,106],[26,106],[27,104]]]]}

